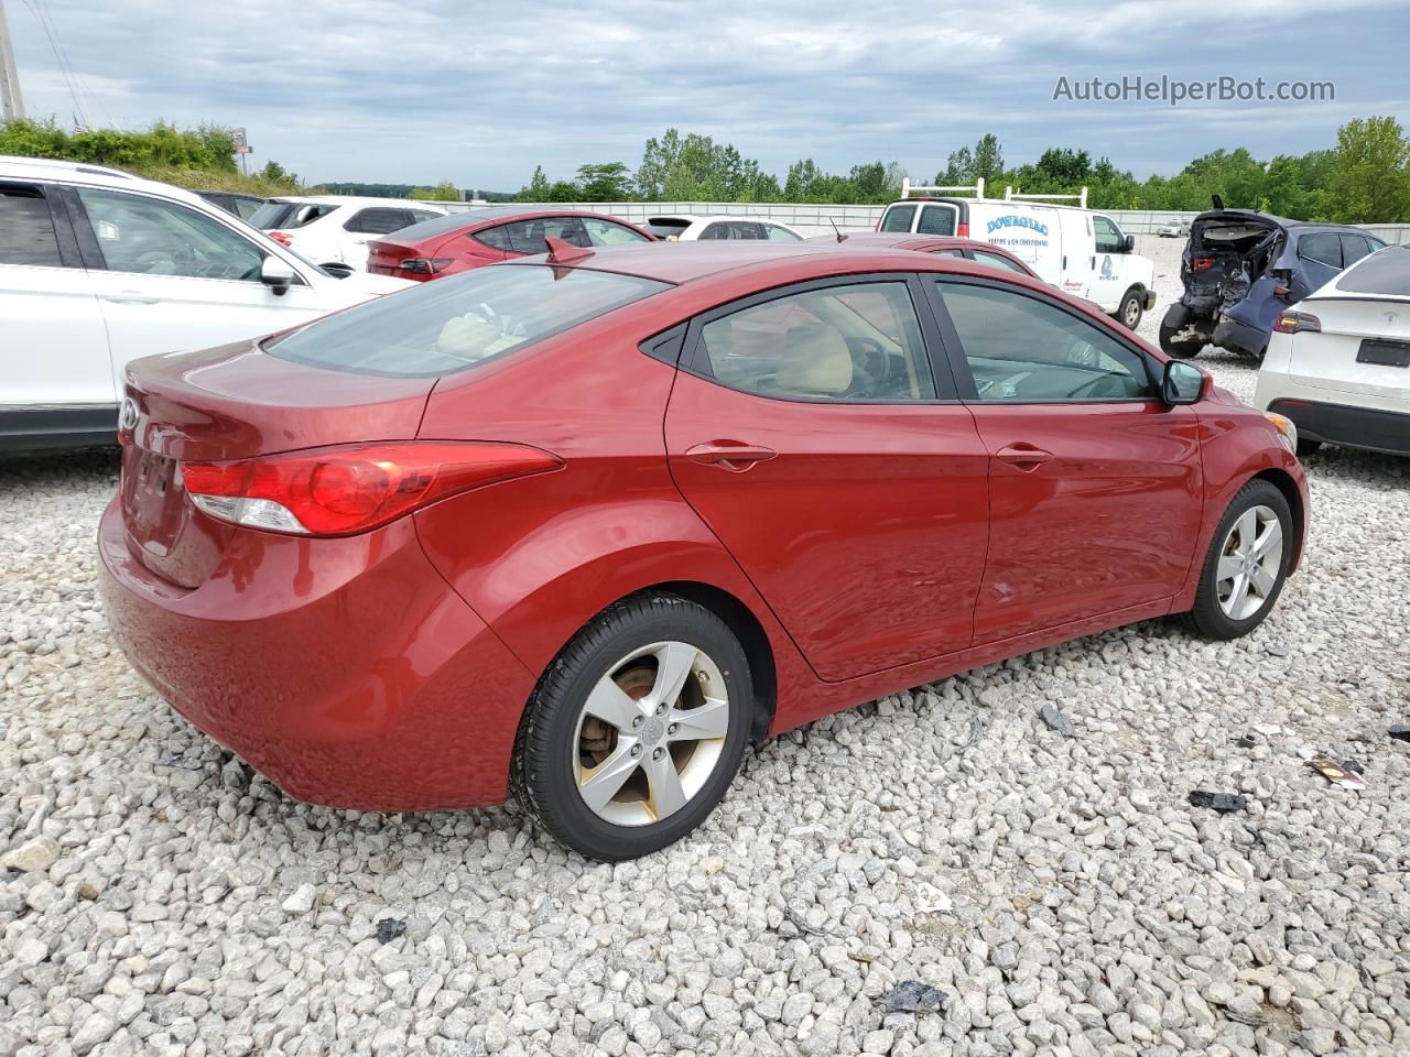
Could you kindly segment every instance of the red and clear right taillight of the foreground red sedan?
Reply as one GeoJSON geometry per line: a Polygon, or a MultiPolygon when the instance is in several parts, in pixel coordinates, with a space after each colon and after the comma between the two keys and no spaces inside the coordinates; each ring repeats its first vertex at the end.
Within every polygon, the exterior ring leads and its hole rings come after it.
{"type": "Polygon", "coordinates": [[[458,492],[561,465],[525,444],[403,441],[180,469],[192,502],[212,517],[275,533],[348,536],[458,492]]]}

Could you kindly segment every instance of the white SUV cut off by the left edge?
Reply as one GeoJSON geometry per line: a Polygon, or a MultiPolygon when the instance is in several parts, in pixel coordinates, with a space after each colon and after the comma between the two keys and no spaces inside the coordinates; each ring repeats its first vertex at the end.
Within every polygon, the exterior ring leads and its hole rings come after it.
{"type": "Polygon", "coordinates": [[[333,276],[165,183],[0,156],[0,451],[111,441],[130,359],[268,334],[412,285],[333,276]]]}

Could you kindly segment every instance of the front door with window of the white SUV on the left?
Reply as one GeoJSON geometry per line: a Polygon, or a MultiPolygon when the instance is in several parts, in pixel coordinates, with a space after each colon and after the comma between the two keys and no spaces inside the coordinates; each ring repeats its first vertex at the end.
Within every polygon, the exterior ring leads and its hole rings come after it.
{"type": "Polygon", "coordinates": [[[269,334],[326,311],[296,272],[282,295],[259,280],[254,238],[190,206],[133,192],[65,196],[107,324],[118,390],[130,359],[269,334]]]}

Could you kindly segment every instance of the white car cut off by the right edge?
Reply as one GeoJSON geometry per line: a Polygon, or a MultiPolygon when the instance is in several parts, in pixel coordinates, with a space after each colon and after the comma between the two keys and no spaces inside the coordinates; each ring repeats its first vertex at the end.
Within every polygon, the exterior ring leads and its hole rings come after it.
{"type": "Polygon", "coordinates": [[[1324,441],[1410,455],[1410,247],[1378,249],[1280,311],[1253,402],[1293,420],[1299,455],[1324,441]]]}

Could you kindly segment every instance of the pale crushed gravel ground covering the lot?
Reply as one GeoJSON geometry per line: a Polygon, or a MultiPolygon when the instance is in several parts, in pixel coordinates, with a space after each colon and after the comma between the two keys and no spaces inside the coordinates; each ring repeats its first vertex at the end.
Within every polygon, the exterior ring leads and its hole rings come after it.
{"type": "MultiPolygon", "coordinates": [[[[1153,333],[1180,244],[1145,242],[1153,333]]],[[[1410,1053],[1410,462],[1324,451],[1249,638],[1152,622],[866,705],[616,867],[513,808],[289,801],[111,650],[113,458],[0,465],[0,1057],[1410,1053]]]]}

